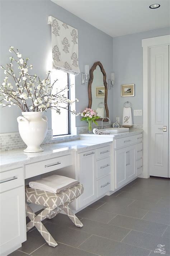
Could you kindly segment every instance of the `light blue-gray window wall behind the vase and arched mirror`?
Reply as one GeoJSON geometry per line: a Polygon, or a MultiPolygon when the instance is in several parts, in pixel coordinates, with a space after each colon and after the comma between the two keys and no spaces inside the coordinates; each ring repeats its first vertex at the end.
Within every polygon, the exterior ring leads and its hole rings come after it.
{"type": "MultiPolygon", "coordinates": [[[[79,33],[79,67],[84,72],[84,65],[89,67],[100,61],[109,75],[113,70],[113,39],[89,23],[74,16],[50,0],[0,0],[0,64],[9,63],[9,46],[17,47],[23,56],[30,58],[33,72],[41,78],[46,76],[47,57],[51,50],[51,26],[47,25],[51,15],[78,29],[79,33]]],[[[33,73],[33,74],[34,74],[33,73]]],[[[0,70],[0,82],[4,74],[0,70]]],[[[80,112],[88,106],[87,85],[76,76],[76,111],[80,112]]],[[[108,95],[110,118],[113,121],[113,92],[108,95]]],[[[21,111],[16,107],[0,109],[0,133],[18,131],[17,116],[21,111]]],[[[47,113],[51,128],[51,111],[47,113]]],[[[76,118],[76,126],[84,126],[80,117],[76,118]]]]}

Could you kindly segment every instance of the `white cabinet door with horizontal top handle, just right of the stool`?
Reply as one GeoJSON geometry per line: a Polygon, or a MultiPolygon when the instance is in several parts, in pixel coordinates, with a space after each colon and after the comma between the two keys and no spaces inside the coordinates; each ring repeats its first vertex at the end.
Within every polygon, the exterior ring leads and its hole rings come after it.
{"type": "Polygon", "coordinates": [[[79,154],[79,181],[84,186],[84,193],[79,197],[79,207],[86,206],[96,199],[96,152],[87,151],[79,154]]]}

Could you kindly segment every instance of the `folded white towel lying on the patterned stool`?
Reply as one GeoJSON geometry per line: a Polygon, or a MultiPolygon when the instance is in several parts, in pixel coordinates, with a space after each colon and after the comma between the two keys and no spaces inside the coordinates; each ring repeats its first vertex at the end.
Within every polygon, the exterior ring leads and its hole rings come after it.
{"type": "Polygon", "coordinates": [[[78,184],[79,181],[60,175],[51,175],[41,180],[30,181],[29,186],[32,189],[44,190],[51,193],[60,193],[61,191],[78,184]]]}

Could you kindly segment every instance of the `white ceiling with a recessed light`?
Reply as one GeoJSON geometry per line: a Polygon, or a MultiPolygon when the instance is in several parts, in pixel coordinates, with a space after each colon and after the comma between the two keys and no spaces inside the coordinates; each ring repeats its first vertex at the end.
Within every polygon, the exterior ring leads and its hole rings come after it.
{"type": "Polygon", "coordinates": [[[112,37],[170,26],[170,0],[51,1],[112,37]]]}

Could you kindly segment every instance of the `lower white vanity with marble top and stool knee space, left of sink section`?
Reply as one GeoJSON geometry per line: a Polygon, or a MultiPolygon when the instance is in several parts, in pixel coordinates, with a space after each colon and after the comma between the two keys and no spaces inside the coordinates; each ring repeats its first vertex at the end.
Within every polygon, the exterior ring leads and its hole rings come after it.
{"type": "MultiPolygon", "coordinates": [[[[23,149],[2,153],[0,255],[15,251],[27,239],[25,184],[51,172],[79,180],[85,192],[72,203],[71,208],[77,212],[110,190],[111,144],[76,140],[43,146],[41,153],[24,153],[23,149]],[[107,173],[102,172],[105,165],[107,173]]],[[[35,211],[38,209],[34,208],[35,211]]]]}

